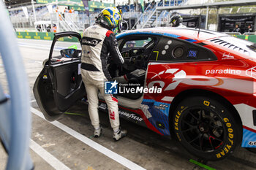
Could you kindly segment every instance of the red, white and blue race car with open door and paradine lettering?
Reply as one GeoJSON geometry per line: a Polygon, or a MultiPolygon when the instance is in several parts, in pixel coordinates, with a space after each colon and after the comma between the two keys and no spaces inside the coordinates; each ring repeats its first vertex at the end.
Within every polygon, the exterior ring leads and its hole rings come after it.
{"type": "MultiPolygon", "coordinates": [[[[47,120],[56,120],[76,101],[86,101],[80,75],[81,50],[53,48],[34,83],[47,120]]],[[[70,38],[71,37],[71,38],[70,38]]],[[[256,45],[227,34],[194,28],[145,28],[117,36],[123,66],[109,60],[119,115],[162,136],[178,139],[192,155],[226,158],[238,146],[256,147],[256,45]],[[133,90],[132,90],[133,89],[133,90]]],[[[99,94],[99,109],[108,107],[99,94]]]]}

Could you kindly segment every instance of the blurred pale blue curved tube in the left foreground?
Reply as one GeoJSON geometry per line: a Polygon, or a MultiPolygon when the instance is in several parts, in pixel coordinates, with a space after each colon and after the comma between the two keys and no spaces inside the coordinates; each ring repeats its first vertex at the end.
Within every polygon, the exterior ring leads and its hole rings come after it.
{"type": "Polygon", "coordinates": [[[0,1],[0,53],[7,74],[10,98],[0,84],[0,138],[7,151],[6,169],[33,169],[29,154],[31,112],[29,85],[15,33],[0,1]]]}

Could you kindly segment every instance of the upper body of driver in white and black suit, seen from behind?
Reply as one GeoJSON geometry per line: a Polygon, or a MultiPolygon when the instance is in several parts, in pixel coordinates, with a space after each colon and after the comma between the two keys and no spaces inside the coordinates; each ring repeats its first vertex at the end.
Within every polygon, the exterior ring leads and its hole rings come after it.
{"type": "Polygon", "coordinates": [[[111,77],[107,69],[108,53],[116,63],[124,63],[117,47],[116,36],[112,31],[98,24],[86,28],[82,39],[81,68],[91,71],[91,74],[105,75],[110,80],[111,77]]]}

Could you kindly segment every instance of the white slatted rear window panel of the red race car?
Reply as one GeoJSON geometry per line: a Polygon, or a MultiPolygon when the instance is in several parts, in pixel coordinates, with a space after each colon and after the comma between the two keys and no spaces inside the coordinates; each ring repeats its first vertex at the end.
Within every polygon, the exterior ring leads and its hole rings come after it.
{"type": "Polygon", "coordinates": [[[238,53],[249,55],[250,57],[256,58],[255,43],[246,41],[244,39],[238,39],[233,36],[222,36],[218,39],[212,39],[214,42],[223,47],[227,47],[231,50],[235,50],[238,53]]]}

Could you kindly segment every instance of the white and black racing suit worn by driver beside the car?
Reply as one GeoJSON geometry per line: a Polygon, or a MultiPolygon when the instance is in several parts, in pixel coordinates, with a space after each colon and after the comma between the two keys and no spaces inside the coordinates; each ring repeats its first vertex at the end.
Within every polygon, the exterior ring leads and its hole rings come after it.
{"type": "Polygon", "coordinates": [[[105,94],[105,81],[111,80],[107,69],[109,54],[116,64],[124,63],[113,32],[99,25],[86,28],[82,39],[81,74],[86,86],[91,124],[95,129],[99,128],[98,91],[100,91],[108,105],[111,127],[113,131],[118,131],[118,100],[111,94],[105,94]]]}

